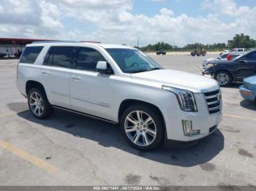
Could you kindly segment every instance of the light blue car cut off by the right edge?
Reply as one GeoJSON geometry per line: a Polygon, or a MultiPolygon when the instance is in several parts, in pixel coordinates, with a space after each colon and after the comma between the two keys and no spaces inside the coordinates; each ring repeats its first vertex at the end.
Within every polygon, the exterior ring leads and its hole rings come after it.
{"type": "Polygon", "coordinates": [[[256,101],[256,76],[244,79],[244,85],[239,87],[241,96],[248,101],[256,101]]]}

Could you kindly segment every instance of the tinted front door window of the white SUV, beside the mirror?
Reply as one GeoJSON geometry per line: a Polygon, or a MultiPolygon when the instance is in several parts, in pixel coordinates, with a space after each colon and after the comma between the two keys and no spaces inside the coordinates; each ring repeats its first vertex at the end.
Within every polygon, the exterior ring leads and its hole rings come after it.
{"type": "Polygon", "coordinates": [[[87,47],[80,47],[78,53],[77,69],[96,71],[98,61],[106,61],[105,58],[97,51],[87,47]]]}

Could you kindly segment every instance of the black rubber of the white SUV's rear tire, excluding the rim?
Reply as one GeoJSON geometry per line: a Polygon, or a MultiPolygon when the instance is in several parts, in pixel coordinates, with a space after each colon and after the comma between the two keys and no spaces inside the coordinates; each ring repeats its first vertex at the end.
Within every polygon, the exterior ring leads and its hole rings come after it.
{"type": "Polygon", "coordinates": [[[29,91],[29,94],[28,94],[28,106],[29,106],[29,110],[30,112],[33,114],[34,117],[36,117],[37,119],[46,119],[48,117],[50,117],[51,114],[53,114],[53,107],[50,105],[49,101],[48,101],[48,98],[46,97],[45,93],[40,90],[39,88],[32,88],[30,91],[29,91]],[[42,114],[40,116],[34,114],[31,110],[31,107],[30,107],[30,104],[29,104],[29,98],[30,98],[30,95],[31,93],[33,92],[37,92],[39,93],[39,95],[41,96],[42,98],[42,102],[43,102],[43,105],[45,107],[44,109],[44,112],[42,112],[42,114]]]}

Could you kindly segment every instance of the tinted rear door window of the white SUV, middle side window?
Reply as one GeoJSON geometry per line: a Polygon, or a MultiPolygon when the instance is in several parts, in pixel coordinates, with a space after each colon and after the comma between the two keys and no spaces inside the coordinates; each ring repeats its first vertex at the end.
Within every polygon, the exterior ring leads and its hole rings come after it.
{"type": "Polygon", "coordinates": [[[78,47],[50,47],[44,65],[74,69],[78,47]]]}

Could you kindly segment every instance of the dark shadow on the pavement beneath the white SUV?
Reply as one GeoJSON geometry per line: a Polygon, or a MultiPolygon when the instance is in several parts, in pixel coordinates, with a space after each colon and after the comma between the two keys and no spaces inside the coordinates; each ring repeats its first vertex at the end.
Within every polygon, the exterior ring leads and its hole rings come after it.
{"type": "MultiPolygon", "coordinates": [[[[13,105],[17,106],[20,105],[20,103],[8,104],[10,109],[15,110],[13,105]]],[[[23,103],[23,106],[27,109],[25,105],[26,104],[23,103]]],[[[158,163],[183,167],[207,163],[222,151],[225,141],[221,131],[217,129],[210,136],[197,141],[197,143],[178,143],[173,145],[171,149],[159,147],[149,152],[141,152],[127,144],[121,136],[121,130],[119,130],[118,125],[94,120],[59,109],[55,109],[53,116],[48,120],[38,120],[34,118],[29,110],[18,112],[17,114],[19,117],[42,125],[45,128],[61,130],[79,139],[97,141],[102,147],[116,147],[124,152],[129,152],[133,155],[138,155],[158,163]]]]}

